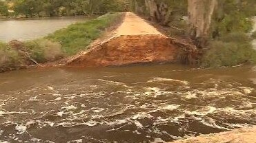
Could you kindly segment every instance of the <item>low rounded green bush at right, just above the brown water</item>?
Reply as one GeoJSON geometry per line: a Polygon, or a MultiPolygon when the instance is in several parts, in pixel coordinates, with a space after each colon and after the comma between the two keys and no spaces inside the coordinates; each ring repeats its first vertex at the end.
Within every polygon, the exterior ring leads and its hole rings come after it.
{"type": "Polygon", "coordinates": [[[250,38],[243,33],[231,33],[221,41],[211,41],[208,48],[201,60],[203,67],[256,63],[256,51],[250,44],[250,38]]]}

